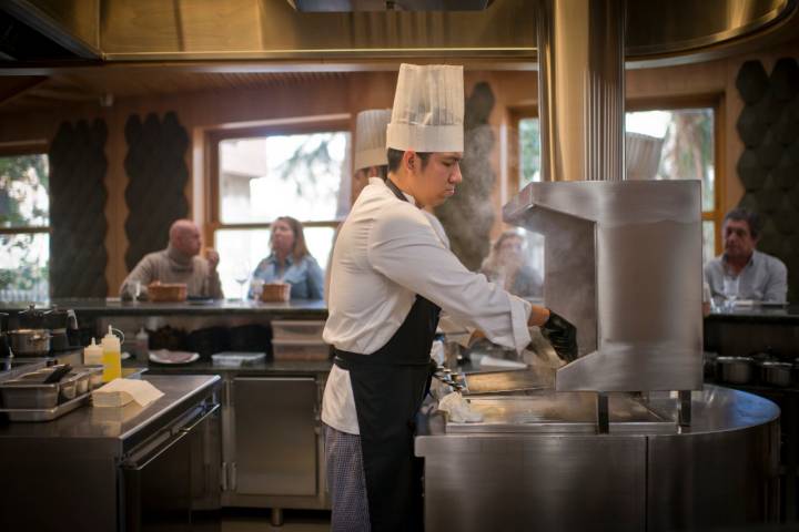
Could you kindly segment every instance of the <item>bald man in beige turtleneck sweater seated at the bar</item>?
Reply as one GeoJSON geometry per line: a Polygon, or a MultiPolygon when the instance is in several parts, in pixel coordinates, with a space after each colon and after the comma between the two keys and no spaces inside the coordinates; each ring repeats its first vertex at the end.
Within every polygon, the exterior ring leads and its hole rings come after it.
{"type": "Polygon", "coordinates": [[[179,219],[170,227],[170,241],[166,249],[149,253],[128,275],[120,287],[120,296],[130,298],[129,285],[141,283],[141,294],[146,296],[146,285],[155,280],[161,283],[185,283],[189,297],[212,297],[222,299],[216,265],[219,254],[206,250],[206,258],[200,254],[200,229],[191,219],[179,219]]]}

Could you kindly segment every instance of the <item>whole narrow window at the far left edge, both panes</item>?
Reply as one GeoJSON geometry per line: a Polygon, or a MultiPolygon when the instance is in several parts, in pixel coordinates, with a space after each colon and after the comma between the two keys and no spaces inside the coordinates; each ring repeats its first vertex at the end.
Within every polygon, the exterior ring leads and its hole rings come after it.
{"type": "Polygon", "coordinates": [[[44,153],[0,155],[0,300],[49,297],[48,176],[44,153]]]}

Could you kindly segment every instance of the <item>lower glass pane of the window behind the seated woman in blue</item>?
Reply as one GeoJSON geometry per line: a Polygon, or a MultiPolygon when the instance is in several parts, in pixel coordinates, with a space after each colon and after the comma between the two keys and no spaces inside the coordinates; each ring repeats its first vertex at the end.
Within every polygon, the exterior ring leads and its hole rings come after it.
{"type": "MultiPolygon", "coordinates": [[[[311,255],[324,270],[333,248],[333,227],[305,227],[305,244],[311,255]]],[[[236,294],[241,288],[236,282],[236,265],[252,266],[249,275],[257,264],[270,253],[269,229],[218,229],[214,234],[214,246],[220,253],[218,272],[222,280],[222,290],[230,295],[236,294]]],[[[240,277],[241,278],[241,277],[240,277]]]]}

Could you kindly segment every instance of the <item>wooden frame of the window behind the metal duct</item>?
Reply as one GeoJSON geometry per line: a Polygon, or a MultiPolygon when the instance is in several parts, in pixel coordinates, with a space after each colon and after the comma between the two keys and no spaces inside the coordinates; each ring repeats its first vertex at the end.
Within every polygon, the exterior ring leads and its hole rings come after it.
{"type": "MultiPolygon", "coordinates": [[[[716,255],[724,247],[721,241],[721,225],[724,222],[722,198],[726,194],[727,172],[724,158],[725,145],[725,115],[724,94],[694,94],[688,96],[635,98],[627,100],[625,113],[643,111],[674,111],[680,109],[709,108],[714,111],[714,208],[702,209],[701,221],[714,223],[716,255]]],[[[519,153],[518,153],[518,123],[524,119],[537,119],[537,105],[524,105],[509,110],[510,114],[510,143],[508,187],[518,191],[519,187],[519,153]]]]}

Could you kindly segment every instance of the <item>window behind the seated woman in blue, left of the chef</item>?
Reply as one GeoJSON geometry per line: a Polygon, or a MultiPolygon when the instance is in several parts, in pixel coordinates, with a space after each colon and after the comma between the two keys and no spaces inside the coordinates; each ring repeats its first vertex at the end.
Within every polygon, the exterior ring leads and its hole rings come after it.
{"type": "Polygon", "coordinates": [[[350,177],[347,125],[224,132],[214,140],[212,226],[227,297],[241,297],[245,273],[270,255],[270,227],[279,216],[303,224],[311,255],[326,267],[341,206],[350,204],[350,188],[342,186],[350,177]]]}

